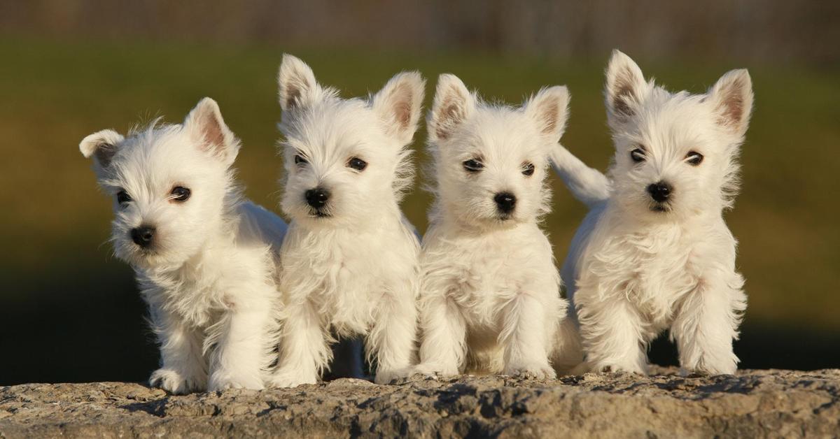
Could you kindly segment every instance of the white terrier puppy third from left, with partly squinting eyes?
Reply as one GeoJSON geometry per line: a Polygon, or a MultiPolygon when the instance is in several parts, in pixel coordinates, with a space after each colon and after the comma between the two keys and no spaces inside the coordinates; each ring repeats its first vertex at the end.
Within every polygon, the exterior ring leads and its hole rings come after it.
{"type": "Polygon", "coordinates": [[[549,154],[569,93],[539,91],[522,107],[490,105],[442,75],[428,116],[437,185],[421,256],[420,374],[554,378],[549,361],[567,303],[551,244],[549,154]]]}

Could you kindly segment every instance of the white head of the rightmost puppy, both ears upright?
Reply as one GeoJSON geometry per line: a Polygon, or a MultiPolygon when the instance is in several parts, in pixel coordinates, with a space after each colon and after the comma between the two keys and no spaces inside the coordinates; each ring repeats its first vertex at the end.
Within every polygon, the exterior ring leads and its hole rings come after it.
{"type": "Polygon", "coordinates": [[[658,219],[732,205],[738,149],[753,107],[746,70],[728,72],[704,95],[670,93],[645,81],[638,65],[615,50],[605,95],[620,206],[658,219]]]}

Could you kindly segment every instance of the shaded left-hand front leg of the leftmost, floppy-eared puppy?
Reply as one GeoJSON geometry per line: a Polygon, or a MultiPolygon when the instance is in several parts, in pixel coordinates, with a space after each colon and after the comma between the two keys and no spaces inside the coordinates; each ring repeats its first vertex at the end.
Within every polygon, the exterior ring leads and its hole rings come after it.
{"type": "Polygon", "coordinates": [[[150,306],[153,329],[160,344],[160,368],[149,384],[176,395],[207,389],[207,361],[202,333],[160,306],[150,306]]]}

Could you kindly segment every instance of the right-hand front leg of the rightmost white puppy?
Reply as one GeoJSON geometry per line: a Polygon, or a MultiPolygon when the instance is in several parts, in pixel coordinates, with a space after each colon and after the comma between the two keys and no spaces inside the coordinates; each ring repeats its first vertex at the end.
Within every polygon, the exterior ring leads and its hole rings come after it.
{"type": "Polygon", "coordinates": [[[738,338],[747,296],[737,273],[707,274],[680,302],[671,334],[680,349],[684,372],[734,374],[738,357],[732,340],[738,338]]]}

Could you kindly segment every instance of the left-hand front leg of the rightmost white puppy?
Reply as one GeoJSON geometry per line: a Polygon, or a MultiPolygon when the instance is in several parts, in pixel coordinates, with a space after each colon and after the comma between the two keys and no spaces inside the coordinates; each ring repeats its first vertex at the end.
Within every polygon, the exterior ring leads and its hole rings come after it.
{"type": "Polygon", "coordinates": [[[575,293],[587,366],[597,372],[645,374],[642,317],[623,297],[593,300],[594,295],[584,289],[575,293]]]}

